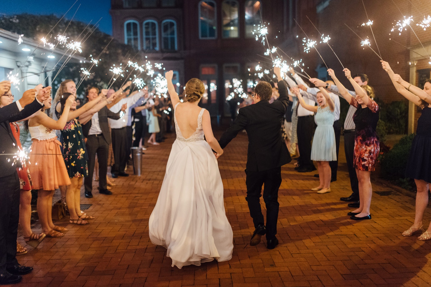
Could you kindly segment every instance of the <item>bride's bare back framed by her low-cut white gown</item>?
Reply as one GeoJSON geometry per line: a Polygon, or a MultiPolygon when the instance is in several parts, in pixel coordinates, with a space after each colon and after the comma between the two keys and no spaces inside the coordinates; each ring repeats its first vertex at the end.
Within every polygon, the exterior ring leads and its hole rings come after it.
{"type": "Polygon", "coordinates": [[[199,116],[200,108],[198,105],[192,103],[180,103],[175,110],[175,117],[177,118],[178,127],[184,139],[188,139],[197,129],[197,118],[199,116]]]}

